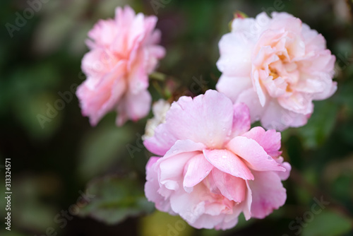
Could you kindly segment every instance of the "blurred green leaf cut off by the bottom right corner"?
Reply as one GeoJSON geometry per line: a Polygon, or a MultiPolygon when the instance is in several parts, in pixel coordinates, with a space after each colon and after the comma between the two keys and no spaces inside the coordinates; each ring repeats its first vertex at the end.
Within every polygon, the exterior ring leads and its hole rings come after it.
{"type": "Polygon", "coordinates": [[[302,236],[338,236],[352,230],[352,220],[334,211],[323,211],[306,223],[302,236]]]}

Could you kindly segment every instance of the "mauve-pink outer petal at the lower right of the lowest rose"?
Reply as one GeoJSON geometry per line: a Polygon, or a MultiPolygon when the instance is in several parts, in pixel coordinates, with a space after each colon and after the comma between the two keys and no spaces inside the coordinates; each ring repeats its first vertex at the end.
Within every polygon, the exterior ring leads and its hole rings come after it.
{"type": "Polygon", "coordinates": [[[248,180],[252,191],[251,216],[265,218],[285,203],[286,190],[275,172],[253,172],[254,180],[248,180]]]}

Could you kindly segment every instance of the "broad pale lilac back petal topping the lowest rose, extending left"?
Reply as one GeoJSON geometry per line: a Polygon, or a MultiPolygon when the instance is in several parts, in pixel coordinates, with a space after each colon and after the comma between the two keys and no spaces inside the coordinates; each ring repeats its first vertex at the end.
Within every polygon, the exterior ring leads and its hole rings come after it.
{"type": "Polygon", "coordinates": [[[232,101],[222,93],[208,90],[193,99],[181,97],[170,107],[166,122],[157,126],[155,136],[144,143],[158,155],[164,155],[177,140],[190,139],[210,148],[221,147],[232,131],[232,119],[232,101]]]}

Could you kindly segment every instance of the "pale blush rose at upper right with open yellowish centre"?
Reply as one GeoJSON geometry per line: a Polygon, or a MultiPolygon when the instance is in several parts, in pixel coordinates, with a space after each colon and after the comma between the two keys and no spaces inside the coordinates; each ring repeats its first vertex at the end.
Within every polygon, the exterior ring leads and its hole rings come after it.
{"type": "Polygon", "coordinates": [[[284,130],[306,124],[313,100],[335,93],[335,57],[323,35],[288,13],[235,18],[219,43],[217,90],[249,106],[251,122],[284,130]]]}

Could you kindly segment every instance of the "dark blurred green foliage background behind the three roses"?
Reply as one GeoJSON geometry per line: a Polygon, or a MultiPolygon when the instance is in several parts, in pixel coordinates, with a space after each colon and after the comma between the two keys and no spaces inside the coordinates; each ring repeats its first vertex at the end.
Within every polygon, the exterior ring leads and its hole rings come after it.
{"type": "Polygon", "coordinates": [[[353,235],[352,4],[1,0],[0,235],[353,235]],[[217,43],[228,32],[234,11],[249,17],[287,11],[323,34],[337,57],[338,90],[315,102],[306,126],[282,133],[283,156],[293,168],[284,182],[285,206],[263,220],[241,217],[232,230],[216,231],[195,230],[146,201],[150,154],[140,136],[147,118],[117,128],[112,112],[91,127],[74,94],[85,79],[80,60],[88,52],[88,30],[100,18],[113,18],[114,8],[125,4],[159,18],[167,56],[157,70],[168,76],[151,83],[154,100],[160,93],[173,100],[215,88],[217,43]],[[11,158],[11,231],[4,224],[5,158],[11,158]]]}

